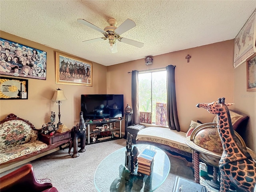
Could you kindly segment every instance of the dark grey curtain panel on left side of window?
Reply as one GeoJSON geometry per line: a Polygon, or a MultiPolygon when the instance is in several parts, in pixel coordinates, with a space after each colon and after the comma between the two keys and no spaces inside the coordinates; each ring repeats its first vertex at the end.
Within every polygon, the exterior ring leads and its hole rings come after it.
{"type": "Polygon", "coordinates": [[[137,70],[132,71],[132,124],[136,125],[140,124],[138,74],[137,70]]]}

